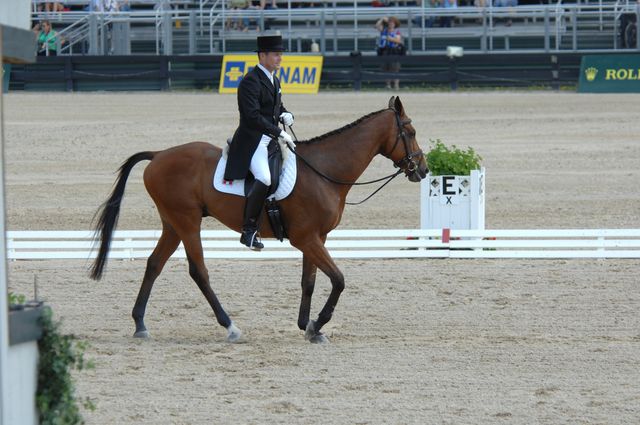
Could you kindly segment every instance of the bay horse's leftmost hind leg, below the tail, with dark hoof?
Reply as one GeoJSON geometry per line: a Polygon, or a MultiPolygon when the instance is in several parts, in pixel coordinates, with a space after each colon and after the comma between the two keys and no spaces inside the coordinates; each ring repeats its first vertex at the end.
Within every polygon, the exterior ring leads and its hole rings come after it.
{"type": "Polygon", "coordinates": [[[138,298],[136,304],[133,306],[133,320],[136,323],[136,332],[133,334],[136,338],[148,338],[149,332],[144,325],[144,313],[147,308],[147,301],[149,301],[149,295],[153,288],[153,283],[156,281],[162,268],[166,264],[171,254],[173,254],[180,243],[180,238],[176,234],[175,230],[167,223],[163,222],[162,234],[158,240],[156,248],[153,250],[149,258],[147,259],[147,269],[144,272],[144,278],[142,279],[142,285],[138,292],[138,298]]]}

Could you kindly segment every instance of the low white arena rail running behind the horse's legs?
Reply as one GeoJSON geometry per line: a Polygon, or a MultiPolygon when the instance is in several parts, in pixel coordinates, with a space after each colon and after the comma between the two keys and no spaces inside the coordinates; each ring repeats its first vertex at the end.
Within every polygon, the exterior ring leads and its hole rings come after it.
{"type": "MultiPolygon", "coordinates": [[[[147,258],[156,230],[114,233],[109,258],[147,258]]],[[[94,258],[90,231],[9,231],[10,260],[94,258]]],[[[250,251],[230,230],[205,230],[205,258],[301,258],[288,242],[264,240],[250,251]]],[[[640,258],[640,229],[546,230],[335,230],[327,248],[334,258],[640,258]]],[[[186,258],[182,245],[173,258],[186,258]]]]}

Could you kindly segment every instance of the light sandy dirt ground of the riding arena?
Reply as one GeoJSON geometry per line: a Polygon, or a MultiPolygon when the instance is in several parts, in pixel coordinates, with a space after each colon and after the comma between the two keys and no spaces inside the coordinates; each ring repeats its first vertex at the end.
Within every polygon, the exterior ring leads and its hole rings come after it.
{"type": "MultiPolygon", "coordinates": [[[[285,96],[307,139],[386,107],[390,93],[285,96]]],[[[488,228],[635,228],[640,97],[549,92],[401,93],[424,149],[473,146],[487,169],[488,228]]],[[[9,230],[89,229],[131,154],[193,140],[222,145],[235,98],[205,93],[9,93],[9,230]]],[[[119,229],[159,229],[141,174],[119,229]]],[[[363,178],[393,170],[374,160],[363,178]]],[[[351,200],[370,188],[356,187],[351,200]]],[[[419,185],[396,179],[341,228],[417,228],[419,185]]],[[[221,228],[212,219],[204,228],[221,228]]],[[[244,332],[226,332],[168,263],[131,337],[144,261],[14,261],[11,290],[40,294],[64,330],[90,343],[76,375],[97,408],[88,424],[635,423],[640,417],[637,260],[338,260],[346,290],[304,341],[301,265],[208,261],[214,290],[244,332]]],[[[312,312],[330,284],[318,277],[312,312]]]]}

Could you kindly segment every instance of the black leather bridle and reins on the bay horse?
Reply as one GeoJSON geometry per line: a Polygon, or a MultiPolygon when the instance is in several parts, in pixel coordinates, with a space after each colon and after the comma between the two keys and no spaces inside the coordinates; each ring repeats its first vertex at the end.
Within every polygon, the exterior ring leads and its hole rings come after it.
{"type": "MultiPolygon", "coordinates": [[[[406,155],[404,156],[404,158],[400,159],[399,161],[395,161],[393,163],[393,166],[398,168],[398,171],[396,171],[393,174],[389,174],[388,176],[381,177],[381,178],[375,179],[375,180],[366,181],[366,182],[345,182],[345,181],[341,181],[341,180],[336,180],[336,179],[334,179],[332,177],[327,176],[326,174],[324,174],[323,172],[321,172],[320,170],[315,168],[313,165],[311,165],[306,160],[305,157],[301,156],[300,154],[298,154],[298,152],[296,152],[295,150],[291,149],[290,146],[287,145],[287,148],[291,152],[293,152],[293,154],[295,156],[300,158],[300,160],[302,162],[304,162],[305,165],[307,165],[307,167],[311,168],[311,170],[313,172],[318,174],[320,177],[330,181],[331,183],[335,183],[335,184],[339,184],[339,185],[343,185],[343,186],[364,186],[364,185],[367,185],[367,184],[378,183],[378,182],[381,182],[383,180],[387,180],[378,189],[376,189],[371,195],[367,196],[362,201],[360,201],[360,202],[346,202],[345,201],[345,204],[347,204],[347,205],[360,205],[363,202],[369,200],[373,195],[378,193],[383,187],[385,187],[387,184],[389,184],[391,182],[391,180],[393,180],[394,178],[398,177],[398,175],[400,175],[401,173],[404,172],[408,176],[410,172],[415,172],[417,167],[418,167],[418,165],[419,165],[419,161],[416,162],[414,160],[414,158],[417,157],[417,156],[422,156],[423,155],[422,149],[418,149],[415,152],[409,153],[409,140],[407,140],[407,133],[405,132],[404,126],[407,125],[407,124],[410,124],[411,123],[411,119],[408,118],[408,119],[403,121],[403,120],[400,119],[400,112],[398,112],[393,107],[389,107],[389,109],[392,110],[394,112],[394,114],[395,114],[396,124],[398,126],[398,135],[396,136],[396,142],[393,145],[393,148],[391,149],[389,154],[386,155],[386,154],[383,153],[383,155],[386,156],[387,158],[391,159],[391,154],[393,153],[393,151],[395,151],[396,146],[398,146],[398,142],[400,141],[400,139],[402,139],[406,155]],[[404,164],[406,164],[406,167],[403,169],[402,166],[404,164]]],[[[284,125],[283,125],[283,127],[284,127],[284,125]]],[[[289,126],[289,130],[293,134],[293,137],[295,138],[295,140],[298,141],[298,137],[296,136],[296,133],[293,131],[293,128],[291,126],[289,126]]]]}

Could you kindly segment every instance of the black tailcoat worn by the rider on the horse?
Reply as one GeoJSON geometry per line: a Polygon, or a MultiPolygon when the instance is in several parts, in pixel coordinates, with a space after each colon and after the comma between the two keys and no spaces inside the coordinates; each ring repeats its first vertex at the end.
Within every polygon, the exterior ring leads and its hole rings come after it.
{"type": "Polygon", "coordinates": [[[229,147],[225,180],[240,180],[247,176],[251,157],[263,134],[272,137],[280,135],[278,120],[280,114],[287,110],[282,105],[280,81],[276,76],[273,77],[273,83],[271,84],[269,77],[257,65],[240,81],[240,125],[233,134],[233,141],[229,147]]]}

